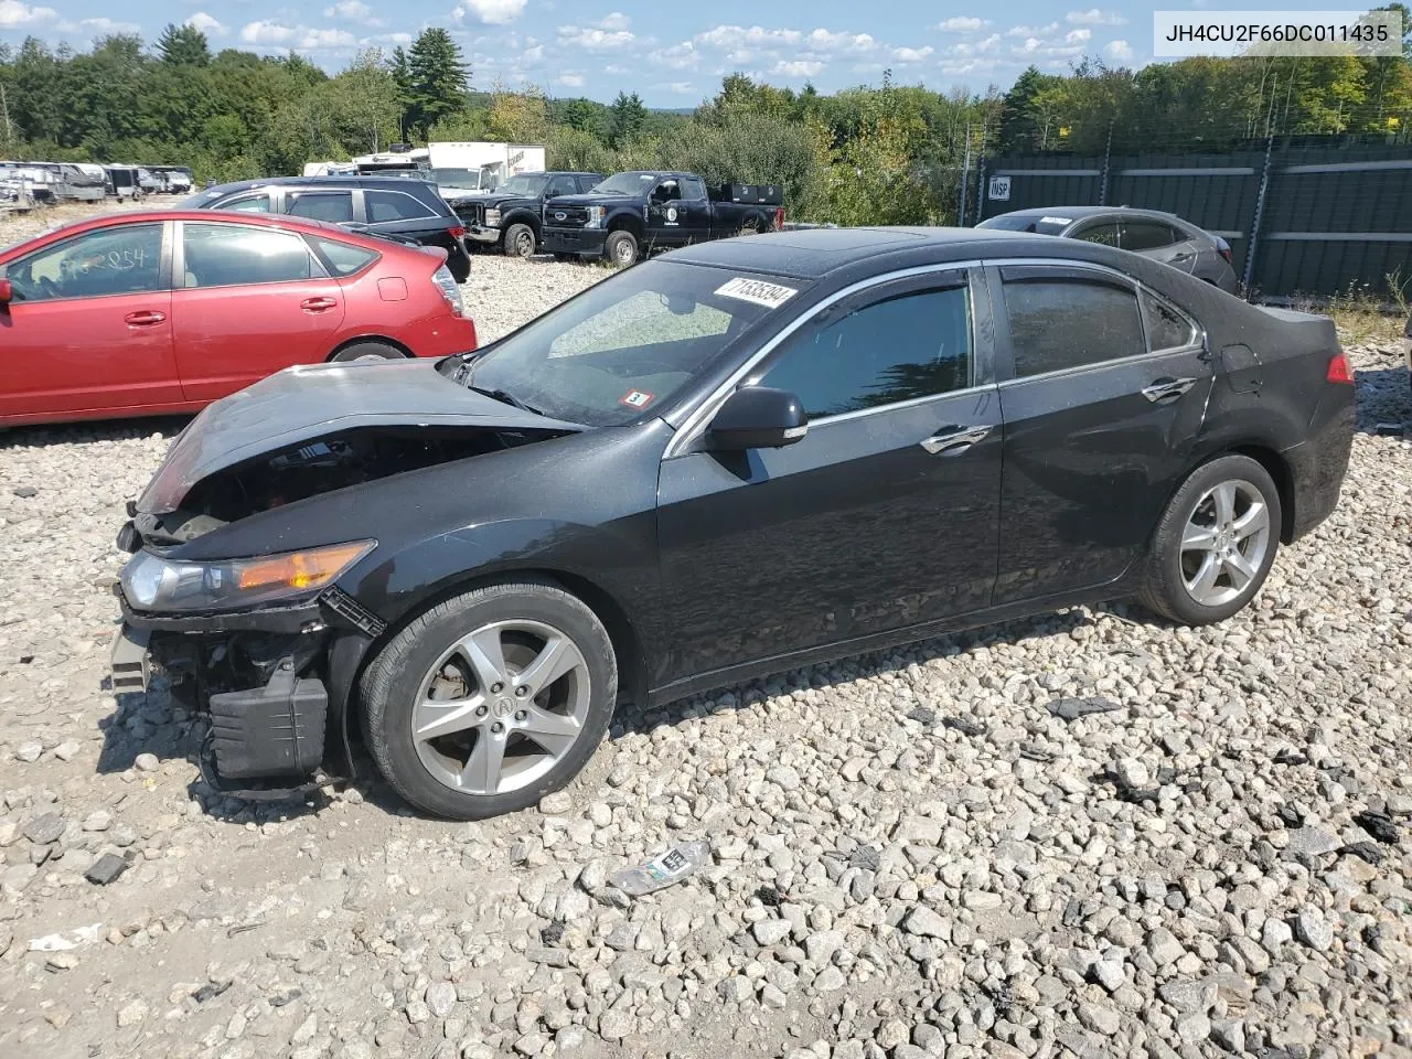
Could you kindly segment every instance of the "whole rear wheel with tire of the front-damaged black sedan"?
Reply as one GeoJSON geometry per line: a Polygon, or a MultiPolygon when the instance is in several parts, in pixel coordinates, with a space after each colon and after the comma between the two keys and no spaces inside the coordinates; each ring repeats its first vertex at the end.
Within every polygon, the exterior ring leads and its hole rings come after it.
{"type": "Polygon", "coordinates": [[[1142,603],[1183,626],[1224,621],[1265,583],[1282,518],[1279,490],[1255,460],[1197,467],[1158,522],[1142,603]]]}

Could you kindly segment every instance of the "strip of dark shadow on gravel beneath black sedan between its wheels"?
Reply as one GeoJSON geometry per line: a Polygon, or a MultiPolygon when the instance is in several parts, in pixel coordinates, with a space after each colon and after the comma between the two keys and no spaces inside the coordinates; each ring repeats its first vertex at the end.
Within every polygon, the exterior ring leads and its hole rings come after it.
{"type": "MultiPolygon", "coordinates": [[[[627,733],[648,734],[654,729],[676,724],[686,716],[736,710],[764,702],[774,695],[786,695],[803,690],[805,688],[826,689],[871,676],[894,674],[914,664],[926,665],[936,658],[960,655],[973,647],[1017,644],[1024,640],[1041,637],[1070,635],[1076,628],[1094,624],[1089,617],[1089,611],[1093,614],[1108,614],[1120,621],[1132,624],[1166,624],[1162,618],[1148,616],[1147,611],[1134,610],[1124,603],[1114,603],[1091,604],[1087,610],[1075,609],[1039,614],[1031,618],[1017,618],[994,626],[980,626],[932,640],[921,640],[915,644],[904,644],[888,651],[873,651],[836,662],[822,662],[791,669],[774,676],[751,681],[750,683],[724,685],[712,692],[669,702],[665,706],[655,706],[652,709],[623,706],[613,719],[613,738],[620,738],[627,733]]],[[[904,710],[899,710],[898,719],[902,714],[904,710]]]]}

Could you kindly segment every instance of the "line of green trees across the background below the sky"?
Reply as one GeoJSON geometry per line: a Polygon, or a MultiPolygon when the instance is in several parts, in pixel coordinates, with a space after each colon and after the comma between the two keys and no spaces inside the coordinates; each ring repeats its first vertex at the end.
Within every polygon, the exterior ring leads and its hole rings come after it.
{"type": "MultiPolygon", "coordinates": [[[[1406,8],[1402,8],[1406,11],[1406,8]]],[[[1406,14],[1405,24],[1412,24],[1406,14]]],[[[442,28],[359,52],[335,75],[299,56],[212,52],[189,25],[148,48],[0,45],[0,158],[189,165],[199,181],[297,174],[398,141],[544,143],[551,168],[681,168],[779,184],[792,216],[955,222],[963,172],[997,152],[1220,151],[1267,136],[1412,141],[1412,35],[1401,58],[1084,59],[1001,92],[898,85],[822,95],[727,76],[693,113],[494,86],[442,28]]]]}

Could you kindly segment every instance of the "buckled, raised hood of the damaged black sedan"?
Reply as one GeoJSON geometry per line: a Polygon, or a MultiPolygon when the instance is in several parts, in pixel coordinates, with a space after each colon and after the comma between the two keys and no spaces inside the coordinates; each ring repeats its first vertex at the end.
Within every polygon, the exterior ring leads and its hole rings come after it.
{"type": "Polygon", "coordinates": [[[265,452],[377,426],[582,431],[457,385],[432,360],[304,364],[222,398],[186,425],[137,501],[174,511],[202,479],[265,452]]]}

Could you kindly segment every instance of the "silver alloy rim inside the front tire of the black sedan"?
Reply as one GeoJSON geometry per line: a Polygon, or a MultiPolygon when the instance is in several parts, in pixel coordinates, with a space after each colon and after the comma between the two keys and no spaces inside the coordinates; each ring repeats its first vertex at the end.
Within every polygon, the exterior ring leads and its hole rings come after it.
{"type": "Polygon", "coordinates": [[[583,652],[542,621],[481,626],[422,678],[412,741],[422,767],[460,794],[535,782],[578,743],[592,686],[583,652]]]}

